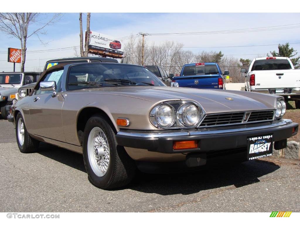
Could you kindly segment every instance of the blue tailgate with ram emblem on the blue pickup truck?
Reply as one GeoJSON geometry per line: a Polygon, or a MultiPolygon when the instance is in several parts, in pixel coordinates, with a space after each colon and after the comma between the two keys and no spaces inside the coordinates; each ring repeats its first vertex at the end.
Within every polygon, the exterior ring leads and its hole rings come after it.
{"type": "Polygon", "coordinates": [[[173,78],[178,82],[179,87],[218,89],[218,74],[196,75],[196,76],[176,76],[173,78]]]}

